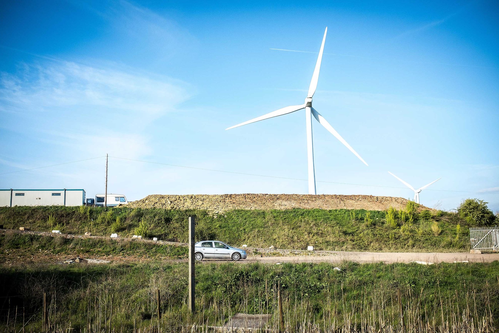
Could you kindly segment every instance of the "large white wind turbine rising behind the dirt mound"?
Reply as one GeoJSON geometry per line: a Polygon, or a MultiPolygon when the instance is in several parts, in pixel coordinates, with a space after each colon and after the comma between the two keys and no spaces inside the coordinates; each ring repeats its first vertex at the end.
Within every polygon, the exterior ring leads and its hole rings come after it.
{"type": "Polygon", "coordinates": [[[312,96],[315,93],[315,89],[317,89],[317,81],[319,79],[319,70],[320,70],[320,62],[322,60],[322,51],[324,50],[324,42],[326,41],[326,33],[327,33],[327,26],[326,30],[324,31],[324,37],[322,38],[322,44],[320,45],[320,50],[319,50],[319,56],[317,57],[317,62],[315,63],[315,69],[312,74],[312,80],[310,81],[310,86],[308,87],[308,94],[307,97],[305,98],[305,102],[300,105],[291,105],[291,106],[286,106],[281,109],[272,111],[270,113],[264,114],[262,116],[253,118],[251,120],[242,122],[241,124],[226,128],[232,129],[235,127],[247,125],[256,121],[268,119],[268,118],[273,118],[277,116],[281,116],[284,114],[288,114],[294,111],[302,110],[305,109],[305,120],[306,120],[306,128],[307,128],[307,157],[308,157],[308,194],[316,194],[315,192],[315,170],[314,170],[314,164],[313,164],[313,142],[312,142],[312,115],[314,118],[322,125],[324,126],[329,132],[331,132],[332,135],[334,135],[338,140],[340,140],[341,143],[343,143],[352,153],[355,154],[365,165],[367,165],[366,161],[360,157],[359,154],[355,150],[353,150],[352,147],[341,137],[341,135],[336,132],[336,130],[320,115],[319,112],[317,112],[313,107],[312,107],[312,96]]]}

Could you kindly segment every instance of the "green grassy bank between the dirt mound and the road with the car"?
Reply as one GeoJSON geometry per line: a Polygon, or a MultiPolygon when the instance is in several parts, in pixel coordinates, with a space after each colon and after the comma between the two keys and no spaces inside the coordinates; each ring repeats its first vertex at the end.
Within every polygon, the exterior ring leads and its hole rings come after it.
{"type": "Polygon", "coordinates": [[[218,216],[201,210],[91,207],[0,208],[4,228],[122,237],[144,235],[187,241],[187,217],[197,217],[196,239],[217,239],[235,246],[337,251],[466,251],[469,232],[456,214],[365,210],[233,210],[218,216]],[[460,224],[460,229],[457,225],[460,224]]]}

